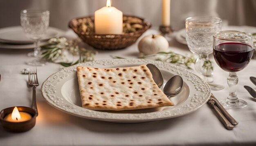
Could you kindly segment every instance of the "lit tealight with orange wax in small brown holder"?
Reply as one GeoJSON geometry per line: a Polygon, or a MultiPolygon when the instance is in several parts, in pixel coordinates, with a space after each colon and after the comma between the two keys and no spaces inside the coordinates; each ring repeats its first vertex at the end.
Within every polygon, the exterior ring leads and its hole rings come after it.
{"type": "Polygon", "coordinates": [[[19,112],[18,108],[15,106],[12,113],[4,117],[4,120],[9,122],[24,122],[31,118],[32,116],[29,113],[19,112]]]}

